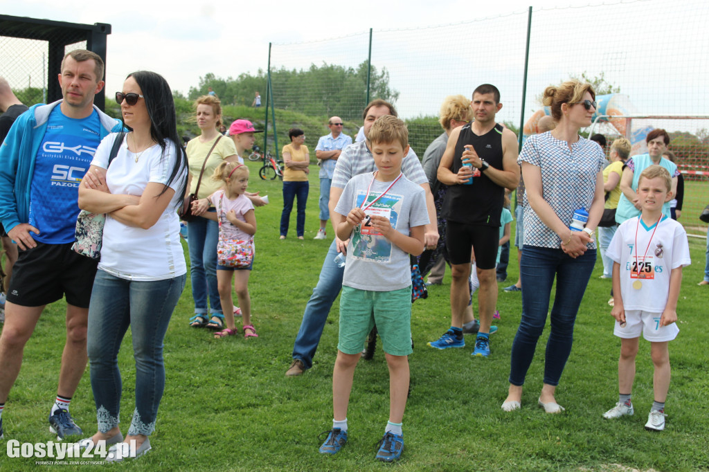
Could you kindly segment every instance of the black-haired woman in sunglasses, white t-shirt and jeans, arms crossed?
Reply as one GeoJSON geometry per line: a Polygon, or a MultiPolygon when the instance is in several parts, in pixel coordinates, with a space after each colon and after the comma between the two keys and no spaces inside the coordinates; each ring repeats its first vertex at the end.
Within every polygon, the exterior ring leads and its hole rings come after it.
{"type": "Polygon", "coordinates": [[[177,217],[187,159],[177,135],[172,91],[155,72],[134,72],[116,101],[130,133],[101,142],[79,186],[79,208],[106,213],[87,332],[99,427],[80,445],[100,440],[113,444],[108,461],[150,449],[148,437],[165,383],[162,342],[187,271],[177,217]],[[122,142],[110,160],[116,139],[122,142]],[[118,349],[128,327],[135,358],[135,411],[124,441],[118,428],[118,349]]]}

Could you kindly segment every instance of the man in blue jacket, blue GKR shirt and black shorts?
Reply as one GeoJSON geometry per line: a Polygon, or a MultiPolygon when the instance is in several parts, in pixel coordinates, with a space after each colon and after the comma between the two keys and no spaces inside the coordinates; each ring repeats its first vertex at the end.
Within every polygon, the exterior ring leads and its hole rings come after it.
{"type": "Polygon", "coordinates": [[[86,50],[62,60],[63,99],[32,106],[19,116],[0,147],[0,220],[17,243],[18,260],[7,293],[0,335],[2,412],[22,364],[22,353],[48,303],[67,298],[67,341],[62,352],[50,432],[82,434],[69,403],[86,369],[86,324],[96,262],[72,251],[79,182],[99,142],[121,122],[94,106],[104,88],[104,62],[86,50]]]}

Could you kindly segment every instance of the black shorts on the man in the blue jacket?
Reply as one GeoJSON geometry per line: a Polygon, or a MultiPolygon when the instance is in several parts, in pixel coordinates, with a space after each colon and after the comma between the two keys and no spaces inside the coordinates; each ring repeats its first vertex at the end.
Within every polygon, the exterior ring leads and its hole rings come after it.
{"type": "Polygon", "coordinates": [[[7,291],[7,300],[16,305],[42,306],[67,296],[67,303],[89,308],[98,262],[72,251],[72,242],[22,250],[7,291]]]}

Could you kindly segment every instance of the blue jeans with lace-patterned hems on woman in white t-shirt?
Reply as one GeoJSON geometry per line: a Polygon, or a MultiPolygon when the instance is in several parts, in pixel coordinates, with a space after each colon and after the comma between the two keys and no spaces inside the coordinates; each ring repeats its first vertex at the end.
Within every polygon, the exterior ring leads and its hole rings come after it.
{"type": "Polygon", "coordinates": [[[186,275],[159,281],[119,279],[99,270],[89,305],[91,390],[99,431],[118,426],[121,411],[121,372],[118,349],[128,326],[135,358],[135,411],[128,434],[150,435],[165,386],[162,340],[177,305],[186,275]]]}

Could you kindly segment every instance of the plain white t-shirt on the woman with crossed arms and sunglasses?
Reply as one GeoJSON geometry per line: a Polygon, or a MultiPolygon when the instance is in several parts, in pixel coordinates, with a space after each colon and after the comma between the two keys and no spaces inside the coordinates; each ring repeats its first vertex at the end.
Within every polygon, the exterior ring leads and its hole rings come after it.
{"type": "MultiPolygon", "coordinates": [[[[115,134],[111,134],[101,141],[91,165],[106,169],[114,137],[115,134]]],[[[167,184],[177,159],[171,142],[166,141],[164,154],[159,145],[154,145],[140,153],[138,162],[135,162],[137,155],[128,150],[124,138],[106,172],[106,184],[111,193],[142,195],[149,182],[167,184]]],[[[124,225],[111,215],[106,216],[99,269],[121,279],[135,281],[172,279],[186,274],[187,265],[179,241],[179,218],[175,209],[182,199],[179,186],[186,174],[185,167],[170,184],[175,194],[155,225],[147,230],[124,225]]]]}

